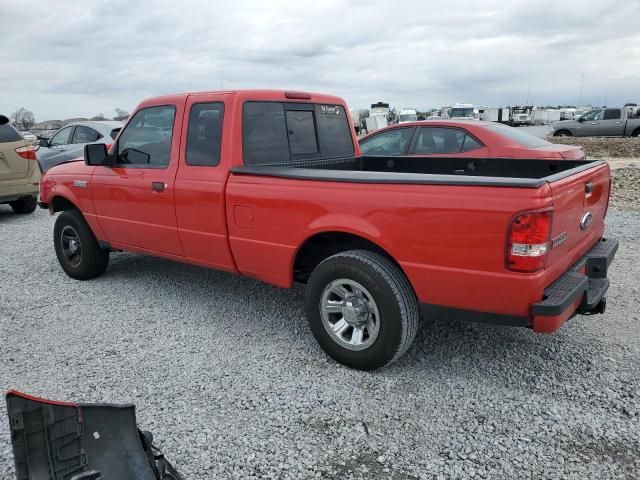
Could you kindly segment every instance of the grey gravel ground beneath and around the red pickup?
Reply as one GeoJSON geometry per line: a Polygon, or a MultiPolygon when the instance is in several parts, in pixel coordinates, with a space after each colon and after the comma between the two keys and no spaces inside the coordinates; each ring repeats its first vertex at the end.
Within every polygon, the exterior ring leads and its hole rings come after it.
{"type": "Polygon", "coordinates": [[[134,403],[189,479],[638,478],[640,214],[607,224],[622,243],[605,315],[552,335],[426,322],[363,373],[316,345],[302,288],[132,254],[74,281],[53,218],[0,206],[0,388],[134,403]]]}

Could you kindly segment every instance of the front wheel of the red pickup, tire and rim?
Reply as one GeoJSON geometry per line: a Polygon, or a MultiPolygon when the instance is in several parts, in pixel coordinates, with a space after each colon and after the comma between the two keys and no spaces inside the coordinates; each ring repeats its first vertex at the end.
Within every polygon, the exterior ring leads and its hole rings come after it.
{"type": "MultiPolygon", "coordinates": [[[[89,280],[102,275],[109,264],[109,252],[100,248],[96,237],[78,210],[65,210],[58,216],[53,228],[53,244],[60,266],[67,275],[77,280],[89,280]],[[65,254],[65,250],[71,250],[63,248],[67,242],[79,246],[79,249],[77,246],[74,247],[74,253],[79,252],[79,255],[65,254]]],[[[69,246],[67,244],[67,247],[69,246]]]]}

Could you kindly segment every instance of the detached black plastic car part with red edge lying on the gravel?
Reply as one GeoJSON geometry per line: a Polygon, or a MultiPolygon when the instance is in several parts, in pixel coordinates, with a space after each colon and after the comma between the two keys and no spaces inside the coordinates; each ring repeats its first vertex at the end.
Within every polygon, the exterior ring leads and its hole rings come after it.
{"type": "Polygon", "coordinates": [[[6,395],[18,480],[182,480],[133,405],[6,395]]]}

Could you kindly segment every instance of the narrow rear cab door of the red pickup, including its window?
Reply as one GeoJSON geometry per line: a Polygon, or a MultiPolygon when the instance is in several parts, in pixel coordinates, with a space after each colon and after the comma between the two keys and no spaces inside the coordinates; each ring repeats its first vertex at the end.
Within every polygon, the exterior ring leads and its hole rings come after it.
{"type": "Polygon", "coordinates": [[[235,271],[229,249],[225,185],[231,152],[225,94],[189,95],[175,181],[178,237],[189,260],[235,271]]]}

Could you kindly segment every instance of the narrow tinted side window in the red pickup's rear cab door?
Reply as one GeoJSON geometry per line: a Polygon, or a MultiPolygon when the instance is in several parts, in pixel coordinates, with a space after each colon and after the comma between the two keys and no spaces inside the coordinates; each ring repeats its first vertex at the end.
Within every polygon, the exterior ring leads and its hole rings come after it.
{"type": "Polygon", "coordinates": [[[224,103],[196,103],[189,113],[187,165],[214,167],[220,163],[224,103]]]}

